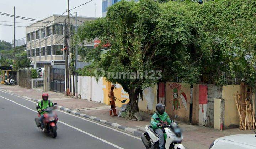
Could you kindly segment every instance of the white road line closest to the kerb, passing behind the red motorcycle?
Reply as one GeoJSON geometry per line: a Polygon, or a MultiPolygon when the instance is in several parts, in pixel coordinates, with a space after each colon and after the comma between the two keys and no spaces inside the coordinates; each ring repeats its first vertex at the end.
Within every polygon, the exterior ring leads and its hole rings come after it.
{"type": "MultiPolygon", "coordinates": [[[[0,89],[0,90],[1,90],[2,92],[4,92],[2,89],[0,89]]],[[[10,95],[13,95],[13,94],[8,93],[8,92],[4,92],[4,93],[7,93],[7,94],[10,94],[10,95]]],[[[20,96],[18,96],[18,97],[20,97],[20,96]]],[[[27,101],[30,101],[30,102],[32,102],[32,103],[36,103],[36,104],[37,104],[37,102],[34,102],[34,101],[32,101],[32,100],[29,100],[29,99],[26,99],[26,98],[23,98],[23,97],[20,97],[20,98],[25,99],[25,100],[27,100],[27,101]]],[[[113,131],[116,131],[116,132],[119,132],[119,133],[122,133],[122,134],[125,134],[125,135],[127,135],[127,136],[130,136],[130,137],[133,137],[133,138],[135,138],[135,139],[140,140],[140,138],[139,138],[139,137],[135,137],[135,136],[133,136],[132,134],[128,134],[128,133],[125,133],[125,132],[123,132],[123,131],[119,131],[119,130],[117,130],[117,129],[114,129],[114,128],[111,128],[111,127],[108,127],[108,126],[106,126],[106,125],[102,125],[102,124],[97,123],[97,122],[94,122],[94,121],[92,121],[92,120],[88,120],[88,119],[85,119],[85,118],[82,118],[82,117],[79,117],[79,116],[76,116],[76,115],[73,115],[73,114],[70,114],[70,113],[64,112],[64,111],[62,111],[62,110],[58,110],[58,111],[59,111],[59,112],[62,112],[62,113],[64,113],[64,114],[68,114],[68,115],[71,115],[71,116],[74,116],[74,117],[80,118],[81,120],[88,121],[88,122],[94,123],[94,124],[96,124],[96,125],[100,125],[100,126],[102,126],[102,127],[105,127],[105,128],[111,129],[111,130],[113,130],[113,131]]]]}

